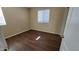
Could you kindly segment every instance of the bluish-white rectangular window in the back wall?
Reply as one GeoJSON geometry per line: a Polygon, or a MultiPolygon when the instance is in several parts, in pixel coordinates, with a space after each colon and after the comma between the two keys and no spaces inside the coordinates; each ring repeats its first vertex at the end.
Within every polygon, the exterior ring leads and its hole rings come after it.
{"type": "Polygon", "coordinates": [[[49,22],[49,10],[38,10],[38,23],[49,22]]]}

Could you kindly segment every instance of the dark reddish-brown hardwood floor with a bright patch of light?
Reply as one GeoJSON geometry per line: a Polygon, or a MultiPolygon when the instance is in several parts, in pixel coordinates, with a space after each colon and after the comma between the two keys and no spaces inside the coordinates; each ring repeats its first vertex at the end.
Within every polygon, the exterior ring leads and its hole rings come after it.
{"type": "Polygon", "coordinates": [[[57,34],[29,30],[7,39],[10,51],[58,51],[61,37],[57,34]]]}

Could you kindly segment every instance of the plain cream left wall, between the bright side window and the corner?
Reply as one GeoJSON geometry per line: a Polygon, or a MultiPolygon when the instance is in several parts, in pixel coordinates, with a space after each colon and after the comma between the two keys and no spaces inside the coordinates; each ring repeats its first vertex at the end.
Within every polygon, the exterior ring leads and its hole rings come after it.
{"type": "Polygon", "coordinates": [[[5,37],[30,29],[28,8],[3,7],[2,11],[7,23],[7,25],[2,28],[5,37]]]}

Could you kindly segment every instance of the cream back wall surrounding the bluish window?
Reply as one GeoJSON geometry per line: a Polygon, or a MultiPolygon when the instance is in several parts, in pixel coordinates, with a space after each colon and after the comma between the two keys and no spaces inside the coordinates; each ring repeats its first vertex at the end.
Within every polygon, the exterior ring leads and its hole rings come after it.
{"type": "Polygon", "coordinates": [[[67,12],[67,11],[68,11],[68,9],[64,8],[64,7],[31,8],[31,10],[30,10],[31,29],[63,35],[64,25],[66,22],[66,19],[64,19],[64,18],[66,18],[67,14],[65,12],[67,12]],[[50,10],[49,23],[38,24],[37,11],[40,9],[49,9],[50,10]]]}

